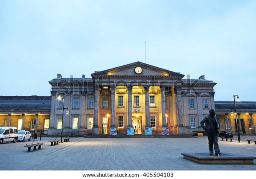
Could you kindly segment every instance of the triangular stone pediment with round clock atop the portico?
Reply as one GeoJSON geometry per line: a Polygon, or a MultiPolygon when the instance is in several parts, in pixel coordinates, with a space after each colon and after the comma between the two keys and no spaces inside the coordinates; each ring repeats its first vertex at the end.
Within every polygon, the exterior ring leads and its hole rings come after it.
{"type": "Polygon", "coordinates": [[[184,75],[177,73],[177,72],[172,72],[166,69],[158,68],[156,66],[148,65],[142,62],[135,62],[132,64],[127,64],[123,66],[118,66],[115,68],[107,69],[101,72],[95,72],[91,74],[92,77],[96,76],[164,76],[164,77],[172,77],[172,78],[183,78],[184,75]],[[136,67],[140,67],[136,71],[136,67]]]}

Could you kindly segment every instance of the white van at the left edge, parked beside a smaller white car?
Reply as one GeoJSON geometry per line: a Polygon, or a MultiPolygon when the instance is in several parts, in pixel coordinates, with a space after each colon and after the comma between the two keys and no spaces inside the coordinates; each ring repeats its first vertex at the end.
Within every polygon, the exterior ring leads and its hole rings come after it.
{"type": "Polygon", "coordinates": [[[4,141],[15,143],[18,139],[17,127],[0,127],[0,144],[4,141]]]}

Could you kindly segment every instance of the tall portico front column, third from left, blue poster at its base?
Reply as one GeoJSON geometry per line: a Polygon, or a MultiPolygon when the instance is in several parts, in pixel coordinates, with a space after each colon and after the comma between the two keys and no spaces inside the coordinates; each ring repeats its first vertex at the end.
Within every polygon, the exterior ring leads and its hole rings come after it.
{"type": "Polygon", "coordinates": [[[134,127],[132,125],[132,85],[127,85],[128,90],[128,126],[127,135],[134,135],[134,127]]]}

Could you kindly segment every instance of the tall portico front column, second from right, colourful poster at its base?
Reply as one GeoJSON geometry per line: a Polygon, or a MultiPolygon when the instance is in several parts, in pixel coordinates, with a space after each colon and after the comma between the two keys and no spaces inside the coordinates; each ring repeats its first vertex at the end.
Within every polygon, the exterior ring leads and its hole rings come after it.
{"type": "Polygon", "coordinates": [[[166,85],[161,85],[161,100],[162,100],[162,134],[169,135],[169,127],[166,122],[166,95],[165,89],[166,85]]]}

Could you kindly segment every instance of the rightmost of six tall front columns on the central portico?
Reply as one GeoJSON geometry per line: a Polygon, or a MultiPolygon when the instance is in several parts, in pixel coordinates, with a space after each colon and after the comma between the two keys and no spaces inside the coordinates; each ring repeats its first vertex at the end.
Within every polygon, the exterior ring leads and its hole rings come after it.
{"type": "Polygon", "coordinates": [[[181,90],[182,86],[177,85],[177,105],[178,105],[178,133],[185,134],[185,127],[183,126],[183,117],[182,117],[182,102],[181,102],[181,90]]]}

